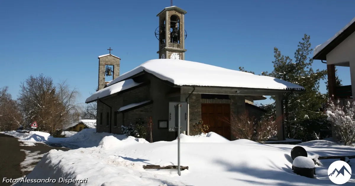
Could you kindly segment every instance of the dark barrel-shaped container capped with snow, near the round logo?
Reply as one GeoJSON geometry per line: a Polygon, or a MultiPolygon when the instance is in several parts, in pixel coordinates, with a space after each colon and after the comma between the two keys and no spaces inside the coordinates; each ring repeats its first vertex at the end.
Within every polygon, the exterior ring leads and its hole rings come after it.
{"type": "Polygon", "coordinates": [[[298,156],[292,163],[293,172],[310,178],[314,178],[316,174],[316,168],[313,160],[308,157],[298,156]]]}

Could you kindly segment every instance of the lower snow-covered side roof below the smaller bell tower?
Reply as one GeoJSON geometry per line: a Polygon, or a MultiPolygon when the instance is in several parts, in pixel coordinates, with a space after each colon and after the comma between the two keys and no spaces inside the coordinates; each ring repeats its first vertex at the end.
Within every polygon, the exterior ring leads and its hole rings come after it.
{"type": "Polygon", "coordinates": [[[117,92],[120,92],[122,90],[126,90],[132,87],[135,87],[137,85],[140,85],[141,83],[136,83],[135,81],[133,81],[133,79],[127,79],[125,81],[121,81],[119,83],[116,83],[114,85],[111,85],[109,87],[103,88],[97,92],[95,92],[93,95],[91,95],[90,97],[88,97],[85,100],[85,103],[97,100],[99,98],[103,98],[106,96],[109,96],[111,94],[115,94],[117,92]]]}

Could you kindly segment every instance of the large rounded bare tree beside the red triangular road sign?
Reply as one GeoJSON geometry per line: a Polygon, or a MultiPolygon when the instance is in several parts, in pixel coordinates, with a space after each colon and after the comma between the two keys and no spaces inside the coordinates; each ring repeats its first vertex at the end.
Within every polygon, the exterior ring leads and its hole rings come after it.
{"type": "Polygon", "coordinates": [[[18,101],[26,123],[37,121],[38,130],[51,135],[70,123],[71,114],[79,108],[79,93],[75,88],[71,90],[66,81],[55,86],[50,77],[31,75],[20,87],[18,101]]]}

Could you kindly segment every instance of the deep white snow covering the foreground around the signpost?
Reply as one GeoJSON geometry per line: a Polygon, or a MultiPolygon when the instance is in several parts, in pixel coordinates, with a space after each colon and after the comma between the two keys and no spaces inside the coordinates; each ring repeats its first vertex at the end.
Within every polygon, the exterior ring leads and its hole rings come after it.
{"type": "MultiPolygon", "coordinates": [[[[310,157],[353,154],[355,150],[354,147],[329,144],[323,140],[301,145],[310,157]]],[[[189,166],[189,170],[181,171],[181,176],[178,176],[175,169],[142,168],[147,164],[177,165],[176,140],[140,143],[134,137],[120,139],[112,135],[103,137],[97,147],[49,151],[27,178],[87,178],[85,184],[69,185],[88,186],[335,185],[327,176],[326,169],[331,163],[328,161],[321,160],[321,166],[316,165],[317,179],[294,174],[290,157],[294,146],[264,145],[250,140],[228,141],[215,133],[182,135],[181,165],[189,166]]],[[[353,185],[354,176],[355,171],[350,182],[344,185],[353,185]]]]}

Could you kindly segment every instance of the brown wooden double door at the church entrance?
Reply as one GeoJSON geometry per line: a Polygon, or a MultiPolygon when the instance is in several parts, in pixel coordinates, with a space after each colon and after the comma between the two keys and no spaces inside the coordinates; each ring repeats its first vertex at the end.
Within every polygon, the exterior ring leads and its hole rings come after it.
{"type": "Polygon", "coordinates": [[[202,103],[203,124],[209,125],[209,132],[215,132],[230,140],[230,105],[202,103]]]}

